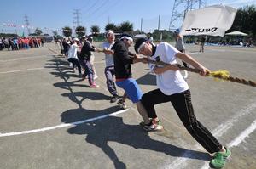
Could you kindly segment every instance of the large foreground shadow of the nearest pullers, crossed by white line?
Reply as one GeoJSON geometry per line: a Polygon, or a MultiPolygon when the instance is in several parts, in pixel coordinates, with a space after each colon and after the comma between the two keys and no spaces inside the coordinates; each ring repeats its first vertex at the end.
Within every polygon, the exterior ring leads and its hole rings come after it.
{"type": "MultiPolygon", "coordinates": [[[[83,121],[99,115],[106,115],[118,110],[118,107],[108,108],[107,110],[67,110],[61,115],[61,121],[70,123],[74,121],[83,121]],[[95,115],[95,116],[94,116],[95,115]]],[[[120,161],[114,150],[108,145],[108,142],[117,142],[119,144],[129,145],[135,149],[148,149],[165,153],[174,157],[181,157],[186,151],[185,158],[209,160],[207,153],[202,153],[195,150],[179,148],[172,144],[166,144],[154,140],[148,136],[148,132],[144,132],[139,125],[129,125],[123,122],[121,117],[108,116],[102,120],[96,120],[79,124],[67,129],[70,134],[87,135],[85,141],[96,145],[98,148],[108,155],[113,161],[115,168],[126,168],[125,161],[120,161]]],[[[142,159],[143,160],[143,159],[142,159]]]]}

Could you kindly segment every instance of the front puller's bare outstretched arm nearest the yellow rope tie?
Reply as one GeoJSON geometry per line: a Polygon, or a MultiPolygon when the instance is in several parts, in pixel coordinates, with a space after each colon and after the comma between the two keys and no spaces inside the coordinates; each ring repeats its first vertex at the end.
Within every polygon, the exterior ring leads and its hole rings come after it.
{"type": "Polygon", "coordinates": [[[189,65],[192,65],[193,67],[195,67],[195,69],[200,70],[201,76],[206,76],[210,72],[210,70],[208,70],[206,67],[197,62],[194,58],[189,56],[189,54],[177,53],[176,57],[182,59],[189,65]]]}

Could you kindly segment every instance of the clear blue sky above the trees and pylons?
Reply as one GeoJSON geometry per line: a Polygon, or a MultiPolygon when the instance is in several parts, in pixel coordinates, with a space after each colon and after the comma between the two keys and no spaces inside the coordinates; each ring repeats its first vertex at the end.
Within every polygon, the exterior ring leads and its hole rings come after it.
{"type": "MultiPolygon", "coordinates": [[[[206,1],[206,0],[205,0],[206,1]]],[[[207,6],[213,4],[225,4],[234,8],[247,5],[256,5],[256,0],[207,0],[207,6]]],[[[51,33],[51,30],[61,29],[68,25],[73,27],[74,9],[79,9],[81,25],[90,33],[91,25],[99,25],[104,31],[105,25],[120,23],[128,20],[134,30],[141,28],[143,18],[143,31],[154,31],[158,27],[160,15],[160,29],[168,30],[174,0],[9,0],[1,2],[0,10],[0,32],[15,32],[20,34],[22,28],[13,28],[6,25],[25,25],[23,14],[28,14],[30,25],[42,29],[44,33],[51,33]]],[[[196,6],[197,7],[197,6],[196,6]]],[[[178,8],[183,8],[179,6],[178,8]]],[[[179,20],[175,25],[181,26],[179,20]]],[[[34,30],[32,30],[34,31],[34,30]]],[[[26,33],[26,30],[25,30],[26,33]]],[[[61,32],[60,32],[61,34],[61,32]]]]}

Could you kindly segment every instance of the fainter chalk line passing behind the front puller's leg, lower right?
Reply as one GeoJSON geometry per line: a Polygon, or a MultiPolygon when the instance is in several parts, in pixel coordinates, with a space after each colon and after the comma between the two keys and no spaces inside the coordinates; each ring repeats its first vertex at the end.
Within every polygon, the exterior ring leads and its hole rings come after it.
{"type": "MultiPolygon", "coordinates": [[[[246,109],[240,110],[238,113],[236,113],[236,115],[232,119],[230,119],[229,121],[226,121],[224,124],[221,124],[217,128],[215,128],[212,131],[212,135],[214,135],[216,138],[221,137],[224,134],[224,132],[227,132],[230,129],[230,127],[232,127],[234,123],[238,121],[243,115],[250,114],[251,112],[253,112],[252,110],[255,108],[256,108],[256,103],[249,104],[246,109]]],[[[195,144],[195,148],[202,149],[200,144],[195,144]]],[[[171,164],[166,166],[166,168],[177,169],[177,168],[182,168],[181,165],[186,166],[187,165],[186,162],[188,161],[188,158],[185,158],[185,157],[187,155],[189,155],[189,151],[185,151],[182,157],[177,158],[171,164]]]]}

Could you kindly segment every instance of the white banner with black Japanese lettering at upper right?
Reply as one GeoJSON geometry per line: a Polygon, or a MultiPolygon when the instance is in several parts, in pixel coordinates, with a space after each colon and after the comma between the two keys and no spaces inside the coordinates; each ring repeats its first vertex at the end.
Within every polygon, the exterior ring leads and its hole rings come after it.
{"type": "Polygon", "coordinates": [[[224,5],[213,5],[189,11],[183,21],[181,34],[210,35],[224,37],[225,31],[232,26],[236,8],[224,5]]]}

